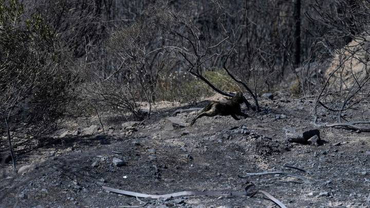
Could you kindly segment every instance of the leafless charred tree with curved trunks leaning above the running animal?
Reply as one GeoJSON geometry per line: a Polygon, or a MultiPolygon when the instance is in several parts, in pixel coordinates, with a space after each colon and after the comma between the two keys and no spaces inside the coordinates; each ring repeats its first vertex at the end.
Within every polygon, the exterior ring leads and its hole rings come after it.
{"type": "MultiPolygon", "coordinates": [[[[221,28],[220,35],[213,38],[211,34],[199,29],[186,15],[171,10],[167,12],[170,14],[170,20],[165,24],[158,24],[164,31],[170,33],[168,37],[169,45],[164,48],[179,54],[182,66],[194,77],[205,82],[214,91],[224,96],[233,97],[233,93],[220,90],[204,75],[207,69],[223,68],[236,83],[241,84],[247,90],[255,102],[253,109],[259,110],[256,93],[253,93],[247,83],[237,79],[227,67],[230,55],[235,52],[236,42],[235,40],[230,41],[231,34],[235,39],[234,31],[232,29],[230,32],[227,31],[224,25],[218,22],[218,27],[221,28]],[[223,59],[224,61],[222,61],[223,59]]],[[[244,98],[244,102],[248,108],[252,107],[247,99],[244,98]]]]}

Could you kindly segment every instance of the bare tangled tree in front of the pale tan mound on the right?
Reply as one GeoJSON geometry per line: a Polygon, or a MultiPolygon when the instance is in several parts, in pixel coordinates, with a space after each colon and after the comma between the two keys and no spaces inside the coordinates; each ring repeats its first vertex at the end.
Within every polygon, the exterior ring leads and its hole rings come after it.
{"type": "Polygon", "coordinates": [[[369,115],[364,113],[370,92],[369,6],[368,2],[347,1],[331,2],[328,8],[314,4],[315,12],[306,14],[327,31],[312,48],[323,48],[323,55],[308,60],[302,68],[306,72],[301,73],[307,81],[302,85],[305,94],[316,97],[313,123],[317,126],[370,130],[369,115]],[[328,53],[329,60],[323,61],[328,53]]]}

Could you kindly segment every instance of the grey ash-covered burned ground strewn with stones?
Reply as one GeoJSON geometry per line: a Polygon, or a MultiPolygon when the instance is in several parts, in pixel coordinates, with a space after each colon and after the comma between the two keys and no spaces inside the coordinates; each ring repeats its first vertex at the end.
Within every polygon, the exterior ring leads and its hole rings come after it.
{"type": "Polygon", "coordinates": [[[188,106],[170,102],[154,105],[151,118],[140,122],[101,113],[104,131],[97,117],[70,119],[42,147],[17,157],[20,174],[6,164],[0,192],[8,194],[0,207],[278,207],[261,193],[149,199],[102,188],[244,192],[249,184],[248,192],[268,192],[287,207],[370,206],[369,133],[318,128],[323,145],[290,143],[285,129],[316,129],[312,103],[260,102],[262,111],[245,111],[247,119],[203,117],[193,126],[197,111],[173,116],[188,106]],[[240,177],[262,172],[293,175],[240,177]]]}

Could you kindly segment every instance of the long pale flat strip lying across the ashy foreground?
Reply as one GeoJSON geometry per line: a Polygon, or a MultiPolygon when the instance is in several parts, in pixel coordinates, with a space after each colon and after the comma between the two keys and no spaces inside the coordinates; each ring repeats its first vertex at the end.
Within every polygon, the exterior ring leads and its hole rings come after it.
{"type": "Polygon", "coordinates": [[[246,196],[246,197],[253,197],[257,193],[262,193],[267,198],[269,198],[272,202],[274,202],[276,205],[280,206],[281,208],[286,208],[286,206],[281,201],[279,201],[278,199],[276,199],[275,197],[273,197],[272,195],[270,195],[269,193],[267,193],[265,191],[258,190],[258,191],[255,191],[255,192],[251,193],[251,194],[248,194],[247,191],[252,186],[254,186],[254,184],[249,184],[245,188],[245,191],[244,192],[226,192],[226,191],[224,191],[224,192],[222,192],[222,191],[221,192],[220,191],[199,192],[199,191],[183,191],[183,192],[176,192],[176,193],[163,194],[163,195],[142,194],[142,193],[137,193],[137,192],[130,192],[130,191],[119,190],[117,188],[110,188],[110,187],[107,187],[107,186],[102,186],[102,188],[103,188],[103,190],[106,190],[106,191],[109,191],[109,192],[113,192],[113,193],[116,193],[116,194],[123,194],[123,195],[126,195],[126,196],[140,197],[140,198],[147,198],[147,197],[149,197],[149,198],[152,198],[152,199],[171,198],[171,197],[180,197],[180,196],[191,196],[191,195],[194,195],[194,196],[227,196],[227,197],[231,197],[231,196],[246,196]]]}

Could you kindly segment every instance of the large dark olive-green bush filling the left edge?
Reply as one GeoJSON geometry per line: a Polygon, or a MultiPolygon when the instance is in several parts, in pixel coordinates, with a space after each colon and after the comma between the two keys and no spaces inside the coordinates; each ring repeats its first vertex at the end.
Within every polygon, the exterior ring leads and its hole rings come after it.
{"type": "Polygon", "coordinates": [[[5,120],[15,147],[48,134],[63,116],[71,81],[52,31],[40,15],[21,17],[23,10],[0,0],[0,149],[5,120]]]}

